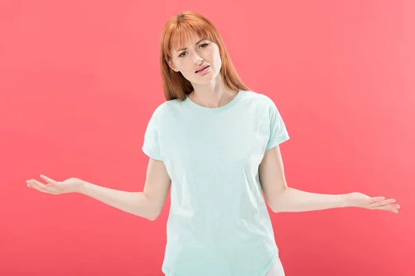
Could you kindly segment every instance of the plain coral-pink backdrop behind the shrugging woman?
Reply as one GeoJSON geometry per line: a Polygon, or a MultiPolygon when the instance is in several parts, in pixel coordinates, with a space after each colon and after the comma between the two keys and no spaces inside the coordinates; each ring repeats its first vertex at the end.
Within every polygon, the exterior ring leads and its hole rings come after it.
{"type": "Polygon", "coordinates": [[[145,127],[165,101],[160,32],[183,10],[208,17],[277,104],[288,186],[401,206],[271,213],[286,275],[413,275],[410,0],[1,1],[0,275],[163,275],[169,197],[148,221],[25,181],[142,191],[145,127]]]}

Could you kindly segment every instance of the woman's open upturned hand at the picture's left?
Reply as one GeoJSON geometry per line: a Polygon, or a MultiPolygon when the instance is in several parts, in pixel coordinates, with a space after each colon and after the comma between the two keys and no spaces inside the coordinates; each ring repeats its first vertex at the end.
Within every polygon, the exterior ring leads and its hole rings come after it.
{"type": "Polygon", "coordinates": [[[30,179],[26,181],[28,184],[27,186],[39,190],[39,192],[50,193],[52,195],[80,193],[82,186],[86,183],[86,181],[76,177],[71,177],[64,181],[55,181],[44,175],[41,175],[40,177],[48,182],[48,184],[43,184],[36,179],[30,179]]]}

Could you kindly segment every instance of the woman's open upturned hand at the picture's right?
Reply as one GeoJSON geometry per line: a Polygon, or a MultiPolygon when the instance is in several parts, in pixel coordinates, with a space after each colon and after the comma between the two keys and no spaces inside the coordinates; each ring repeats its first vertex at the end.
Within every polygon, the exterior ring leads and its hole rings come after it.
{"type": "Polygon", "coordinates": [[[386,210],[398,213],[400,206],[394,204],[395,199],[385,199],[385,197],[369,197],[362,193],[349,193],[346,196],[347,205],[351,207],[367,208],[370,210],[386,210]]]}

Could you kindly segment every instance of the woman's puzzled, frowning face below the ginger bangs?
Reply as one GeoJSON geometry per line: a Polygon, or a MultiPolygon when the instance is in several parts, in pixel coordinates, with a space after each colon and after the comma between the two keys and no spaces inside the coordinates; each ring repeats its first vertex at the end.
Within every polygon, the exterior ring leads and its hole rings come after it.
{"type": "Polygon", "coordinates": [[[219,74],[222,66],[219,48],[209,39],[197,35],[192,36],[190,44],[180,49],[172,49],[172,61],[168,61],[170,68],[181,72],[191,83],[208,83],[219,74]],[[201,67],[209,66],[207,70],[197,73],[201,67]]]}

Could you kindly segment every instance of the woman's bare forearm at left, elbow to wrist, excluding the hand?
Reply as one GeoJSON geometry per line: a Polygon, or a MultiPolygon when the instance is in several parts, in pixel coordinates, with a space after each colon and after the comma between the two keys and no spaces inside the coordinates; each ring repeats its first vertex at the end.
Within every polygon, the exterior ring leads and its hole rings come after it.
{"type": "Polygon", "coordinates": [[[80,193],[138,217],[155,219],[151,201],[145,193],[114,190],[86,181],[80,187],[80,193]]]}

